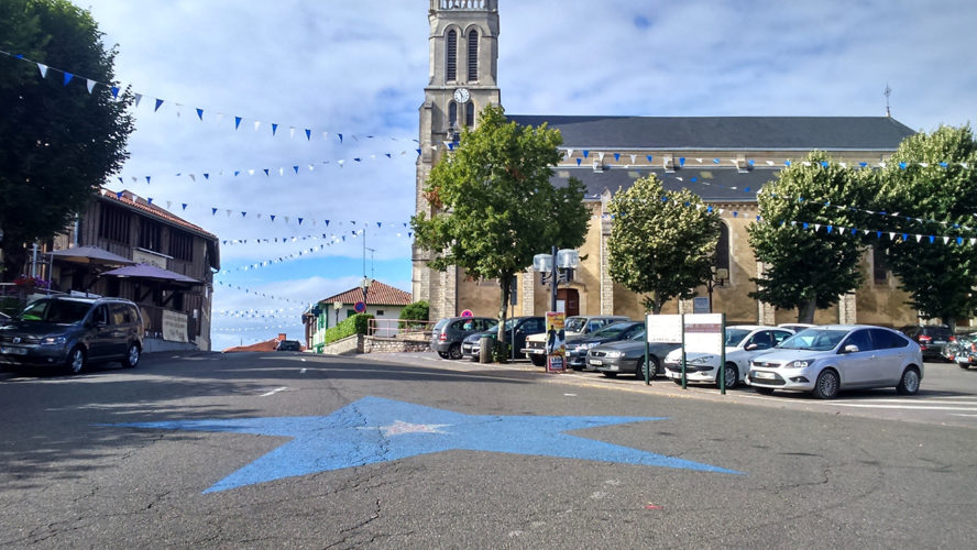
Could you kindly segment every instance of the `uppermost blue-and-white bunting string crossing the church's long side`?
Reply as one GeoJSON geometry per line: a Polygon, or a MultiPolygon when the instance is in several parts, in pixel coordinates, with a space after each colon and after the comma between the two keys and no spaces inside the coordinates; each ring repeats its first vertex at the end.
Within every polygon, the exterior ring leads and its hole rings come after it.
{"type": "Polygon", "coordinates": [[[625,163],[626,163],[626,164],[624,165],[625,168],[630,168],[630,167],[652,168],[652,167],[657,167],[657,168],[663,168],[663,169],[677,169],[677,170],[678,170],[678,169],[685,168],[685,167],[693,168],[693,167],[710,167],[710,166],[714,166],[714,167],[733,167],[733,168],[738,168],[738,169],[737,169],[737,173],[748,172],[750,168],[755,168],[755,167],[757,167],[758,165],[760,165],[760,166],[766,166],[766,167],[769,167],[769,168],[780,168],[780,167],[788,167],[788,168],[789,168],[789,167],[793,166],[794,164],[800,164],[800,165],[803,165],[803,166],[817,166],[817,165],[820,165],[820,166],[823,167],[823,168],[827,168],[827,167],[830,167],[832,164],[837,164],[837,165],[841,166],[842,168],[849,168],[849,167],[850,167],[850,168],[855,168],[855,167],[859,167],[859,168],[886,168],[886,167],[888,167],[888,166],[891,164],[891,165],[893,165],[893,166],[899,166],[899,168],[900,168],[900,169],[903,169],[903,170],[904,170],[904,169],[908,169],[908,168],[910,168],[910,167],[912,167],[912,166],[919,166],[919,167],[921,167],[921,168],[931,168],[931,167],[935,168],[935,167],[940,167],[940,168],[944,168],[944,169],[945,169],[945,168],[949,168],[951,166],[959,166],[959,167],[962,167],[962,168],[964,168],[964,169],[970,169],[970,164],[969,164],[969,163],[963,163],[963,162],[953,162],[953,163],[951,163],[951,162],[936,162],[936,163],[930,163],[930,162],[898,162],[898,163],[890,163],[890,162],[886,162],[886,161],[878,161],[878,162],[876,162],[876,161],[872,161],[872,162],[868,162],[868,161],[859,161],[859,162],[836,162],[836,163],[830,163],[830,162],[827,162],[827,161],[811,162],[811,161],[793,161],[793,160],[790,160],[790,158],[786,158],[786,160],[783,160],[783,161],[770,161],[770,160],[766,160],[766,161],[764,161],[762,163],[758,163],[758,162],[757,162],[756,160],[754,160],[754,158],[745,158],[745,160],[743,160],[743,158],[718,158],[718,157],[714,157],[714,158],[706,158],[706,157],[687,158],[687,157],[684,157],[684,156],[680,156],[680,157],[678,157],[678,158],[670,157],[670,156],[662,157],[662,158],[661,158],[661,162],[659,163],[659,165],[658,165],[658,166],[655,166],[655,165],[654,165],[654,162],[655,162],[655,155],[639,155],[639,154],[633,154],[633,153],[629,153],[629,154],[608,153],[608,152],[606,152],[606,151],[592,152],[592,151],[586,150],[586,148],[584,148],[584,150],[564,148],[564,150],[562,150],[562,151],[563,151],[563,153],[566,154],[564,158],[577,161],[577,166],[582,166],[582,165],[583,165],[583,162],[584,162],[585,160],[588,160],[588,158],[590,158],[591,156],[593,156],[594,162],[595,162],[595,163],[600,163],[600,164],[603,164],[604,161],[605,161],[605,158],[610,162],[610,157],[613,157],[615,163],[621,164],[621,158],[624,157],[625,163]],[[574,153],[574,152],[578,152],[578,151],[581,153],[581,156],[579,156],[579,157],[577,157],[577,158],[573,158],[573,153],[574,153]],[[629,163],[627,162],[628,160],[630,161],[629,163]],[[671,164],[668,164],[669,161],[671,162],[671,164]],[[695,163],[694,165],[692,164],[693,162],[695,163]],[[688,166],[687,166],[687,165],[688,165],[688,166]]]}

